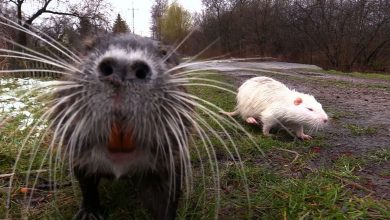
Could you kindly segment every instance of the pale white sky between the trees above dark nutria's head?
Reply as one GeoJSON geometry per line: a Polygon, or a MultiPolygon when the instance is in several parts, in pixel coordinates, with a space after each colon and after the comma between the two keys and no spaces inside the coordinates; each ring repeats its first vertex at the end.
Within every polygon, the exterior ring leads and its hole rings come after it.
{"type": "MultiPolygon", "coordinates": [[[[112,4],[113,16],[115,20],[118,13],[126,20],[130,29],[133,29],[133,13],[134,4],[134,29],[135,33],[143,36],[150,36],[151,24],[151,9],[154,0],[108,0],[112,4]]],[[[169,1],[170,3],[172,0],[169,1]]],[[[202,10],[201,0],[177,0],[189,12],[200,12],[202,10]]]]}

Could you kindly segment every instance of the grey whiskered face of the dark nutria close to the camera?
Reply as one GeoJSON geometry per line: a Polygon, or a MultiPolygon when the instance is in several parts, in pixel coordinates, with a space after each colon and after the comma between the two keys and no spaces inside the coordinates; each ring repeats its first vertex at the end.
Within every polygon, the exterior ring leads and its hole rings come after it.
{"type": "Polygon", "coordinates": [[[190,111],[175,98],[183,87],[169,69],[177,64],[156,42],[133,35],[90,43],[72,79],[79,94],[67,103],[78,118],[70,123],[70,147],[121,163],[181,142],[170,140],[186,135],[182,123],[190,111]]]}

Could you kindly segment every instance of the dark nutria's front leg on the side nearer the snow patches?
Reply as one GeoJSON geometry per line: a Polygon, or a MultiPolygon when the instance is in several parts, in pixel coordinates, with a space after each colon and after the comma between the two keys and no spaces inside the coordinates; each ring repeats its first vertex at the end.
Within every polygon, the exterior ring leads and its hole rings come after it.
{"type": "Polygon", "coordinates": [[[79,182],[83,196],[80,209],[74,216],[75,220],[103,220],[103,212],[100,206],[98,185],[100,175],[87,174],[85,170],[74,168],[74,174],[79,182]]]}

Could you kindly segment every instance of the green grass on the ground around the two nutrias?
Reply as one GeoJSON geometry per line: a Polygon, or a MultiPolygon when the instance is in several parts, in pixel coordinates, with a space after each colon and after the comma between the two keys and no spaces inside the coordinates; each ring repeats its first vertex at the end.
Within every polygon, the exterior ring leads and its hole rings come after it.
{"type": "MultiPolygon", "coordinates": [[[[232,83],[231,79],[219,75],[207,78],[232,83]]],[[[189,92],[227,111],[232,110],[235,105],[234,95],[226,91],[194,86],[189,88],[189,92]]],[[[38,110],[31,111],[39,114],[38,110]]],[[[191,146],[194,184],[189,198],[182,198],[179,219],[212,219],[215,216],[220,219],[390,218],[389,201],[378,200],[364,190],[359,194],[356,190],[351,190],[351,183],[359,181],[356,171],[366,165],[363,159],[340,156],[331,160],[328,166],[311,166],[313,161],[323,156],[313,149],[328,147],[326,137],[321,134],[311,141],[295,141],[285,132],[278,132],[275,137],[266,138],[259,128],[248,126],[237,118],[258,146],[249,141],[244,132],[229,126],[227,131],[234,140],[234,145],[228,136],[223,134],[218,123],[199,109],[197,113],[221,135],[226,147],[218,138],[213,137],[211,132],[208,133],[218,159],[215,161],[207,155],[198,135],[193,134],[196,142],[191,146]],[[238,161],[234,146],[239,151],[241,162],[238,161]],[[215,173],[217,168],[218,176],[215,173]],[[216,187],[217,180],[220,183],[219,188],[216,187]]],[[[21,118],[12,120],[0,130],[0,175],[12,172],[16,155],[26,137],[27,131],[14,133],[19,120],[21,118]]],[[[357,134],[367,133],[367,129],[361,131],[360,127],[353,126],[350,130],[352,133],[356,130],[357,134]]],[[[68,186],[56,192],[37,192],[33,206],[28,213],[24,213],[20,188],[25,186],[25,171],[29,167],[35,147],[39,147],[39,151],[32,162],[32,170],[40,169],[49,144],[49,138],[40,145],[31,139],[22,151],[12,187],[9,218],[17,219],[22,214],[27,214],[30,219],[70,219],[77,211],[80,192],[77,187],[68,186]]],[[[386,149],[378,151],[369,158],[373,161],[388,161],[389,152],[386,149]]],[[[49,165],[53,164],[45,162],[43,168],[48,169],[49,165]]],[[[57,174],[59,183],[72,182],[66,169],[60,168],[43,172],[41,177],[49,179],[49,174],[53,173],[57,174]]],[[[31,176],[36,177],[35,174],[31,176]]],[[[0,178],[0,219],[6,217],[3,213],[6,212],[7,184],[7,178],[0,178]]],[[[125,182],[112,184],[110,181],[104,181],[100,189],[103,205],[110,213],[109,219],[148,219],[148,212],[137,203],[134,190],[125,182]]]]}

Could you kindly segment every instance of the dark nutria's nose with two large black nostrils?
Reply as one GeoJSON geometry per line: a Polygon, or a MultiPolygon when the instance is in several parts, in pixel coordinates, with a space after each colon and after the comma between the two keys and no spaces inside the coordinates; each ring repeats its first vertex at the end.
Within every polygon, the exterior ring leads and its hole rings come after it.
{"type": "Polygon", "coordinates": [[[151,76],[151,70],[142,60],[124,61],[105,58],[98,65],[98,72],[103,80],[112,83],[133,79],[146,79],[151,76]]]}

